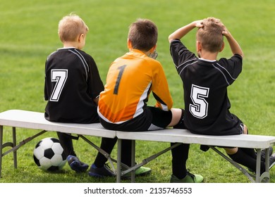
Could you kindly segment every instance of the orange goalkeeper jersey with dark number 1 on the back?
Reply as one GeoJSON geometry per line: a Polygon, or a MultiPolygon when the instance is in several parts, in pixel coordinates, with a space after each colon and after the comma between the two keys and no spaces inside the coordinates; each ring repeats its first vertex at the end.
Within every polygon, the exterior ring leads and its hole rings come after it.
{"type": "Polygon", "coordinates": [[[104,91],[99,96],[99,116],[115,124],[131,120],[143,113],[151,91],[157,100],[156,107],[172,108],[161,63],[134,49],[111,63],[104,91]]]}

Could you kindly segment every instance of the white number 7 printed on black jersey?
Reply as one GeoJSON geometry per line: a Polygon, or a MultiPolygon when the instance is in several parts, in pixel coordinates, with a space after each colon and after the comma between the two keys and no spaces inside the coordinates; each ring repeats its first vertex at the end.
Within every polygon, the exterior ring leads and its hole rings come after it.
{"type": "Polygon", "coordinates": [[[53,69],[51,70],[51,82],[56,82],[54,91],[51,93],[49,101],[59,101],[61,91],[66,83],[68,77],[68,70],[66,69],[53,69]]]}

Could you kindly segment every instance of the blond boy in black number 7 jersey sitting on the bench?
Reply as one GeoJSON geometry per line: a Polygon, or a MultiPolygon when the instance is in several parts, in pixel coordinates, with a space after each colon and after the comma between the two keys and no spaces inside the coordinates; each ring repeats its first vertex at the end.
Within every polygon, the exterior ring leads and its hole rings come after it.
{"type": "MultiPolygon", "coordinates": [[[[78,15],[59,21],[59,38],[63,48],[47,57],[45,63],[45,118],[53,122],[99,122],[97,103],[104,85],[94,59],[81,51],[88,27],[78,15]]],[[[75,172],[85,172],[89,165],[75,154],[70,135],[57,132],[68,164],[75,172]]]]}

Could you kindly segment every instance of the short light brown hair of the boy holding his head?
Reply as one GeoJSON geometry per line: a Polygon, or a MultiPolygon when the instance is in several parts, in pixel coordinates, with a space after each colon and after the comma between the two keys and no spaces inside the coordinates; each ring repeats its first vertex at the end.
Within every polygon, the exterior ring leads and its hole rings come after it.
{"type": "Polygon", "coordinates": [[[224,44],[224,36],[222,34],[224,25],[222,25],[221,20],[209,17],[205,18],[202,24],[203,27],[197,30],[197,41],[207,51],[220,51],[221,46],[224,44]]]}

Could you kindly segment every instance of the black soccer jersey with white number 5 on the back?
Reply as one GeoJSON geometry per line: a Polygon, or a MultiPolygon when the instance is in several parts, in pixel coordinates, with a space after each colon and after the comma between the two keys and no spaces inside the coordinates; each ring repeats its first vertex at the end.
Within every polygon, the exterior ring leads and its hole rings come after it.
{"type": "Polygon", "coordinates": [[[240,134],[243,124],[229,111],[227,87],[240,75],[242,57],[203,60],[178,39],[171,42],[170,51],[183,81],[185,127],[196,134],[240,134]]]}

